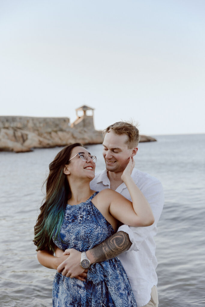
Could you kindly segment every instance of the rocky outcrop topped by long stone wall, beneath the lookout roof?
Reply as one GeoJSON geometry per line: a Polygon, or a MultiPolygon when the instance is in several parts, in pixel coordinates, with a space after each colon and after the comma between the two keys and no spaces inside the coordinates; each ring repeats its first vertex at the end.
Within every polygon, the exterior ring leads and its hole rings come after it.
{"type": "MultiPolygon", "coordinates": [[[[140,137],[140,142],[151,141],[156,140],[140,137]]],[[[102,131],[94,128],[93,116],[79,117],[72,127],[66,117],[0,116],[0,151],[26,152],[75,142],[83,145],[103,142],[102,131]]]]}

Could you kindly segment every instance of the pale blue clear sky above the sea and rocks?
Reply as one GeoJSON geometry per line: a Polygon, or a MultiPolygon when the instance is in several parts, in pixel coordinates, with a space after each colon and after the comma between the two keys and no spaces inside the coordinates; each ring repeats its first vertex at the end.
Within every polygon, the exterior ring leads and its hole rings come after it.
{"type": "Polygon", "coordinates": [[[204,0],[2,0],[0,115],[205,133],[204,0]]]}

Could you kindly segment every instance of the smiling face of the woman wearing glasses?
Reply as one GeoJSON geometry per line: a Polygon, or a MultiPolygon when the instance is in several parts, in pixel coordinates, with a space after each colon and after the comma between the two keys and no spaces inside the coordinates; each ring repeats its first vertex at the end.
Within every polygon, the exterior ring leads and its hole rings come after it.
{"type": "Polygon", "coordinates": [[[95,177],[95,163],[91,159],[91,154],[85,148],[81,146],[74,147],[70,155],[70,163],[67,166],[67,169],[70,172],[70,176],[74,177],[88,177],[93,179],[95,177]],[[81,153],[88,156],[87,161],[82,161],[79,154],[81,153]]]}

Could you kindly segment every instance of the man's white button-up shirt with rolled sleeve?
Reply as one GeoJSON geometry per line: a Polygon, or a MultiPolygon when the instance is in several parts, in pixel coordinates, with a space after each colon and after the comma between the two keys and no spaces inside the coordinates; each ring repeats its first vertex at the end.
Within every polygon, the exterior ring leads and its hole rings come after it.
{"type": "MultiPolygon", "coordinates": [[[[164,193],[161,182],[147,173],[133,169],[131,177],[148,200],[155,218],[155,222],[148,227],[122,225],[118,229],[118,231],[126,232],[132,242],[129,250],[120,254],[118,258],[128,275],[137,306],[140,307],[150,301],[151,289],[154,285],[157,285],[157,274],[155,271],[157,267],[156,245],[153,237],[157,233],[156,224],[163,209],[164,193]]],[[[106,169],[96,174],[90,183],[90,187],[95,191],[110,188],[106,169]]],[[[116,188],[116,192],[132,201],[124,182],[116,188]]]]}

